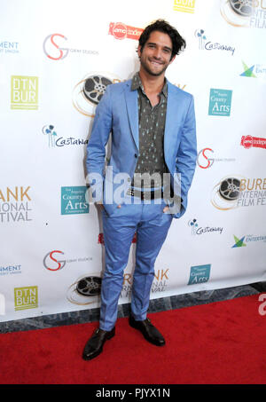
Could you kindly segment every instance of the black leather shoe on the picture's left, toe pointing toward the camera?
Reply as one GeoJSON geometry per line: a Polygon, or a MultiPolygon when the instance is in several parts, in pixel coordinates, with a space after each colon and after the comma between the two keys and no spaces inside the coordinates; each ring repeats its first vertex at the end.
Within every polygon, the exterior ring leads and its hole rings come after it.
{"type": "Polygon", "coordinates": [[[113,338],[114,334],[114,327],[111,331],[104,331],[103,329],[98,328],[86,343],[82,358],[84,360],[96,358],[103,351],[103,346],[106,340],[113,338]]]}

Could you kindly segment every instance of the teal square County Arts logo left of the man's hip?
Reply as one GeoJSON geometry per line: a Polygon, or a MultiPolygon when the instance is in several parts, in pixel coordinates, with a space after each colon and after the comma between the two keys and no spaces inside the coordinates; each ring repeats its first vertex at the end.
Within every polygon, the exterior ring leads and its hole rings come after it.
{"type": "Polygon", "coordinates": [[[86,185],[61,187],[61,215],[87,214],[89,204],[86,201],[86,185]]]}

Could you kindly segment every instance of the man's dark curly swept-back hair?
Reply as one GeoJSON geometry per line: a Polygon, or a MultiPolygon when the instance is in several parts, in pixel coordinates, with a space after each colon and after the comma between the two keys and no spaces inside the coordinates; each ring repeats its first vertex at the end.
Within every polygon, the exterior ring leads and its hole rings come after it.
{"type": "Polygon", "coordinates": [[[172,27],[165,20],[156,20],[152,24],[148,25],[148,27],[146,27],[143,33],[139,36],[138,44],[141,52],[153,31],[160,31],[170,36],[173,46],[171,59],[173,59],[176,54],[179,54],[180,51],[184,51],[186,45],[185,40],[177,32],[176,28],[172,27]]]}

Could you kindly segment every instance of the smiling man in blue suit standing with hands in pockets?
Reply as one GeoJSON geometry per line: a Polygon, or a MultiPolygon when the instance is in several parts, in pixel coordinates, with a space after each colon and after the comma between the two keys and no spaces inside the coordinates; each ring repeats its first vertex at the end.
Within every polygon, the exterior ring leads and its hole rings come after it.
{"type": "Polygon", "coordinates": [[[137,233],[129,325],[157,346],[164,337],[146,317],[154,264],[172,218],[182,217],[196,165],[192,95],[165,78],[185,41],[164,20],[139,38],[139,72],[132,80],[108,85],[100,100],[88,144],[87,169],[94,201],[102,209],[106,268],[99,327],[86,343],[83,359],[103,351],[115,333],[123,271],[137,233]],[[105,171],[106,144],[112,135],[105,171]]]}

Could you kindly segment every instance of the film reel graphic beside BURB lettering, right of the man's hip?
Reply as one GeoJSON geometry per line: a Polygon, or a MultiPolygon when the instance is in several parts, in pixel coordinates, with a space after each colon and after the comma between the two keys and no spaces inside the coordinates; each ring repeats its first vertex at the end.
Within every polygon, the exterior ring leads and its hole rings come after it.
{"type": "Polygon", "coordinates": [[[211,203],[216,209],[229,210],[238,208],[238,199],[241,195],[241,178],[224,177],[215,187],[211,203]]]}

